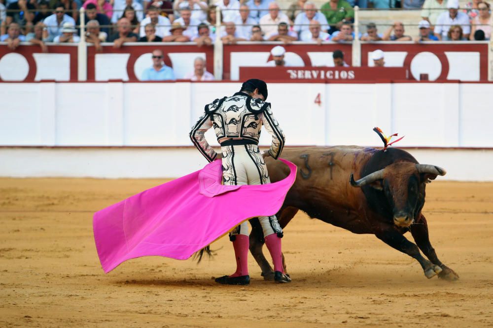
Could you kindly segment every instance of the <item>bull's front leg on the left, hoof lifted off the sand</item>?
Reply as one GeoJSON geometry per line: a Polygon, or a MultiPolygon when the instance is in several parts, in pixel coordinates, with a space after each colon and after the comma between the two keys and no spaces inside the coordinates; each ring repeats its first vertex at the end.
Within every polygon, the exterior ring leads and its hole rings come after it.
{"type": "Polygon", "coordinates": [[[442,271],[442,269],[426,260],[421,256],[420,249],[418,246],[413,244],[411,241],[407,240],[399,232],[389,227],[388,229],[381,229],[375,233],[378,239],[384,241],[387,245],[411,256],[416,259],[423,268],[424,275],[429,279],[434,277],[437,273],[442,271]]]}

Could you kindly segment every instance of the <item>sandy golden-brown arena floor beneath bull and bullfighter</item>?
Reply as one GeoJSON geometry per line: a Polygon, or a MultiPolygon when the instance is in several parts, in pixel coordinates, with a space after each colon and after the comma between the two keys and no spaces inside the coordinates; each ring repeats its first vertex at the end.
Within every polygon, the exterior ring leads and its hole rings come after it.
{"type": "Polygon", "coordinates": [[[458,282],[304,214],[283,239],[291,284],[264,281],[251,257],[249,286],[215,284],[234,270],[227,238],[198,266],[147,257],[105,274],[93,212],[162,182],[0,179],[0,327],[493,326],[493,183],[427,188],[430,239],[458,282]]]}

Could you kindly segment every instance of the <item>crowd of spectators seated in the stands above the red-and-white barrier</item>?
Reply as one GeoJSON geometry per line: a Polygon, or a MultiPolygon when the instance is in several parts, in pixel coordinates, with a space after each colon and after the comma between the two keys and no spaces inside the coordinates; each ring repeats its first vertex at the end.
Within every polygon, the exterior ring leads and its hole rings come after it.
{"type": "Polygon", "coordinates": [[[85,8],[85,40],[101,50],[101,42],[116,48],[126,42],[188,42],[209,45],[239,41],[345,42],[488,40],[493,15],[484,0],[459,9],[458,0],[329,0],[320,8],[296,0],[281,10],[274,0],[0,0],[0,37],[15,49],[31,41],[47,51],[45,42],[70,43],[80,39],[78,8],[85,8]],[[5,2],[5,3],[2,3],[5,2]],[[418,35],[405,33],[394,22],[383,33],[374,23],[354,35],[354,9],[372,7],[421,8],[418,35]],[[216,7],[220,15],[216,17],[216,7]],[[216,30],[219,20],[220,29],[216,30]],[[91,22],[89,26],[89,22],[91,22]]]}

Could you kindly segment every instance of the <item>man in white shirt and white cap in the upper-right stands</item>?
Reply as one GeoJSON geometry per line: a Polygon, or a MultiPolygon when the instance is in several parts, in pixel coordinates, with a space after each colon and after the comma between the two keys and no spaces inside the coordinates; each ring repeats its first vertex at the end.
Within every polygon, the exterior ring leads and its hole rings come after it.
{"type": "Polygon", "coordinates": [[[469,16],[466,13],[459,12],[459,1],[447,1],[448,12],[441,13],[436,19],[435,30],[433,33],[439,40],[447,39],[447,32],[452,25],[460,25],[464,38],[469,37],[471,27],[469,25],[469,16]]]}

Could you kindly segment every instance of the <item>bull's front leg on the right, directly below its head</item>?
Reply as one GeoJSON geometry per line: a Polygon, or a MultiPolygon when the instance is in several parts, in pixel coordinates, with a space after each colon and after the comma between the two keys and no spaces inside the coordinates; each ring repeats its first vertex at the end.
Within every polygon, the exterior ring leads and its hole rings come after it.
{"type": "Polygon", "coordinates": [[[459,278],[458,274],[438,260],[435,249],[431,246],[428,236],[428,224],[423,215],[421,216],[421,219],[418,220],[418,223],[411,225],[410,230],[416,244],[420,247],[423,254],[431,261],[431,263],[442,268],[442,271],[438,273],[438,278],[450,281],[457,280],[459,278]]]}

